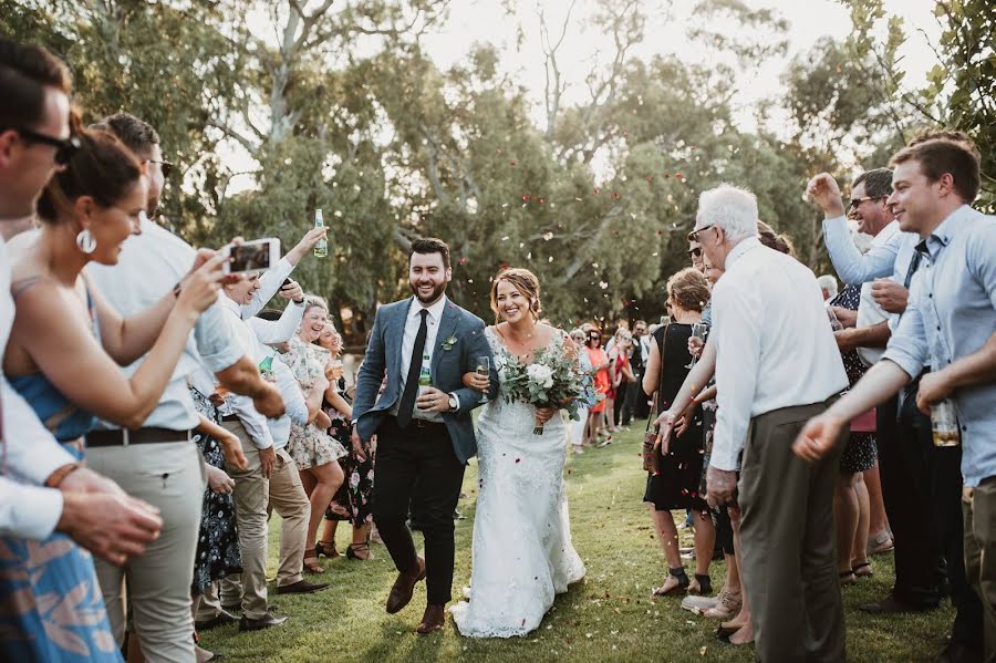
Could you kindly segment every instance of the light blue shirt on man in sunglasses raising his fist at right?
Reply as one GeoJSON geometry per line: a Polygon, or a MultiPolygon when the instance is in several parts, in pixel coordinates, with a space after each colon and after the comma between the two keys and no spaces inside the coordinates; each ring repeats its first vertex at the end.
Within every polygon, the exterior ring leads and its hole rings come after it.
{"type": "MultiPolygon", "coordinates": [[[[823,220],[823,241],[830,253],[830,262],[844,283],[860,286],[873,279],[892,277],[893,281],[902,286],[906,281],[906,272],[920,236],[915,232],[895,232],[881,246],[873,246],[867,253],[862,253],[851,239],[848,219],[840,216],[823,220]]],[[[889,317],[892,333],[895,333],[899,321],[900,315],[889,317]]]]}

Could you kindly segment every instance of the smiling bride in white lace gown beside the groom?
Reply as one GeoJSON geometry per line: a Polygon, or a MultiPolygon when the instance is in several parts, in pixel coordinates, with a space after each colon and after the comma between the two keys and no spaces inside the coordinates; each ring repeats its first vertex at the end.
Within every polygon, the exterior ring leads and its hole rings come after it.
{"type": "MultiPolygon", "coordinates": [[[[512,356],[528,363],[538,350],[575,351],[563,332],[538,322],[539,294],[539,281],[526,269],[508,269],[495,278],[491,309],[504,321],[485,334],[499,380],[500,366],[512,356]]],[[[471,382],[487,389],[487,377],[471,382]]],[[[526,635],[539,626],[554,594],[584,577],[571,543],[563,490],[566,426],[553,407],[537,410],[499,395],[481,411],[477,444],[470,602],[450,611],[468,638],[526,635]],[[537,422],[544,423],[542,435],[533,434],[537,422]]]]}

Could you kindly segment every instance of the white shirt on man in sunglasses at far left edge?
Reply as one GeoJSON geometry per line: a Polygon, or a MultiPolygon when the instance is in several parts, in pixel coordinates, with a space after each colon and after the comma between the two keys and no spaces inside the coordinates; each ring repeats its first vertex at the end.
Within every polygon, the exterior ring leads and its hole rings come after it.
{"type": "MultiPolygon", "coordinates": [[[[13,327],[10,262],[0,237],[0,364],[13,327]]],[[[0,476],[0,535],[44,539],[62,516],[62,493],[44,488],[55,469],[75,463],[35,416],[31,405],[7,382],[0,381],[3,402],[2,437],[7,476],[0,476]],[[33,485],[32,485],[33,484],[33,485]]]]}

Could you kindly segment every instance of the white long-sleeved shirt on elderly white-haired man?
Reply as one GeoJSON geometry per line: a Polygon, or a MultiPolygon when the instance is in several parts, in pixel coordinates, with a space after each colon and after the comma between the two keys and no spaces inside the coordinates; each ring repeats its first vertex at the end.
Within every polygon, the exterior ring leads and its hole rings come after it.
{"type": "Polygon", "coordinates": [[[751,237],[713,289],[718,411],[710,464],[735,470],[750,418],[848,387],[820,287],[805,265],[751,237]]]}

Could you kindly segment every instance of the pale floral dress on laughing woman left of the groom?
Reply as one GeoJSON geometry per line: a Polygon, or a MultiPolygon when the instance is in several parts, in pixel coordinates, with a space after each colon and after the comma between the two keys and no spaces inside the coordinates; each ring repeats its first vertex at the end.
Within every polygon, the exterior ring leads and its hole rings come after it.
{"type": "MultiPolygon", "coordinates": [[[[291,339],[290,350],[282,356],[282,361],[290,367],[305,395],[311,392],[318,377],[324,374],[328,354],[328,351],[305,343],[298,336],[291,339]]],[[[312,424],[291,424],[287,453],[300,470],[334,463],[349,455],[338,439],[312,424]]]]}

